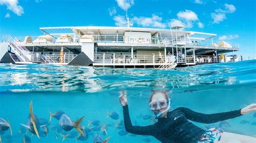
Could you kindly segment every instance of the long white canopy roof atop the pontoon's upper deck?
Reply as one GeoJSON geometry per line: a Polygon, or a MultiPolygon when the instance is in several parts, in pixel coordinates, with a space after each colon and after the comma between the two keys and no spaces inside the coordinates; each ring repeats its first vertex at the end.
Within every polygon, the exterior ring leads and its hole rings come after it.
{"type": "Polygon", "coordinates": [[[201,33],[179,30],[181,27],[171,29],[158,28],[142,28],[142,27],[105,27],[105,26],[77,26],[77,27],[41,27],[40,30],[45,34],[60,35],[60,34],[91,34],[91,35],[124,35],[126,31],[130,32],[150,32],[152,36],[159,37],[176,37],[176,35],[188,35],[193,39],[207,40],[216,36],[211,33],[201,33]]]}

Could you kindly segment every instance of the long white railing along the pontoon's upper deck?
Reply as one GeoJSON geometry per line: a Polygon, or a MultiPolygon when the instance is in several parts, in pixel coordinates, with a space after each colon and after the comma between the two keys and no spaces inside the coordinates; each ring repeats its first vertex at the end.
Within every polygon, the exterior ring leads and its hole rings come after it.
{"type": "Polygon", "coordinates": [[[239,48],[238,44],[232,44],[228,47],[220,46],[218,42],[208,40],[197,40],[187,38],[176,38],[176,37],[151,37],[151,38],[135,38],[126,37],[124,35],[91,35],[90,38],[83,39],[82,36],[72,35],[69,38],[59,38],[60,35],[54,35],[48,39],[39,38],[37,36],[28,37],[16,37],[19,41],[25,45],[33,44],[79,44],[80,42],[97,42],[102,44],[148,44],[148,45],[162,45],[166,47],[175,46],[178,42],[184,42],[188,47],[221,47],[221,48],[239,48]]]}

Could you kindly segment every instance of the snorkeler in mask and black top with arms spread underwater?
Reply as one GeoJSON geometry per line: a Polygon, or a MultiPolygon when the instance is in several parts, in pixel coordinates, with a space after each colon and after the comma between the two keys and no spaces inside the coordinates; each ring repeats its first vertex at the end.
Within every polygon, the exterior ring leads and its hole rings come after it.
{"type": "Polygon", "coordinates": [[[149,126],[133,126],[131,123],[126,95],[119,96],[123,106],[124,124],[127,132],[139,135],[152,135],[161,142],[255,142],[256,138],[235,133],[224,132],[221,128],[202,128],[188,120],[199,123],[215,123],[256,111],[256,104],[230,112],[204,114],[188,108],[177,108],[169,112],[171,100],[166,91],[154,91],[149,100],[150,109],[158,119],[149,126]]]}

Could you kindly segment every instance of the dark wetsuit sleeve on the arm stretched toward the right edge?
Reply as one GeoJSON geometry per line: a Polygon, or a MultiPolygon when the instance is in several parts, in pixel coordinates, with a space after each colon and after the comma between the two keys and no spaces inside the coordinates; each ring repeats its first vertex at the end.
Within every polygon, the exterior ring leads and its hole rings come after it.
{"type": "Polygon", "coordinates": [[[242,116],[241,109],[229,111],[229,112],[212,113],[212,114],[198,113],[188,108],[178,108],[178,109],[185,114],[188,120],[197,121],[199,123],[206,123],[206,124],[216,123],[218,121],[242,116]]]}

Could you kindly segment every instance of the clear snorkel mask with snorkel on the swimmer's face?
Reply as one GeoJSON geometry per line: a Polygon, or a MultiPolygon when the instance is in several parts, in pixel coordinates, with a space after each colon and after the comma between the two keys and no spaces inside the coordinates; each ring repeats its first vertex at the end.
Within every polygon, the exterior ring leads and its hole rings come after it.
{"type": "Polygon", "coordinates": [[[154,112],[154,114],[156,115],[156,119],[160,118],[161,116],[163,116],[166,112],[168,112],[171,108],[171,99],[168,98],[167,99],[156,99],[153,100],[152,102],[149,103],[150,109],[151,110],[159,110],[159,109],[163,109],[163,108],[167,108],[164,111],[159,111],[157,113],[154,112]]]}

